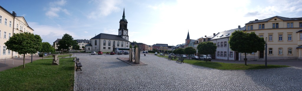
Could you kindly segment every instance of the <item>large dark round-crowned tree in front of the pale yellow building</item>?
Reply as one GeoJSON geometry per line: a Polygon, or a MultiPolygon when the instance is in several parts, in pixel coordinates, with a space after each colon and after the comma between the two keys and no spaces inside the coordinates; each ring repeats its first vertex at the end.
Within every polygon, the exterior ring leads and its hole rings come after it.
{"type": "Polygon", "coordinates": [[[245,33],[239,30],[232,33],[229,44],[231,50],[244,53],[245,65],[247,65],[246,53],[263,51],[265,47],[264,39],[257,36],[254,32],[245,33]]]}

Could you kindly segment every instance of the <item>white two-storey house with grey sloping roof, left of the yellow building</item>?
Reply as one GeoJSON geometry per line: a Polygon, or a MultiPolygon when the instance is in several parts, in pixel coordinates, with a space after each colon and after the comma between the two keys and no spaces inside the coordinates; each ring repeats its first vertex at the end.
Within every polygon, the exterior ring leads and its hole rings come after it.
{"type": "Polygon", "coordinates": [[[240,60],[240,53],[232,51],[229,46],[229,39],[232,33],[235,30],[245,30],[246,27],[240,27],[232,30],[227,30],[223,32],[217,33],[213,38],[209,41],[216,43],[217,49],[215,55],[212,55],[212,58],[216,58],[219,60],[240,60]]]}

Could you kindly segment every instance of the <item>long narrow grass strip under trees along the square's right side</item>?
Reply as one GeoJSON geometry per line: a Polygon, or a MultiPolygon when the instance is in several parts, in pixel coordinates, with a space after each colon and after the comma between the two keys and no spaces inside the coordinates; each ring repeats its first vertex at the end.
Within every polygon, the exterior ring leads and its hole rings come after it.
{"type": "MultiPolygon", "coordinates": [[[[162,55],[157,55],[158,57],[162,57],[162,55]]],[[[168,56],[164,56],[164,58],[168,58],[168,56]]],[[[177,60],[178,57],[174,61],[177,60]]],[[[184,59],[185,63],[194,64],[203,67],[209,67],[214,69],[221,70],[251,70],[251,69],[265,69],[265,68],[278,68],[278,67],[290,67],[286,65],[267,65],[265,64],[233,64],[233,63],[222,63],[222,62],[212,62],[212,61],[203,61],[203,60],[193,60],[193,59],[184,59]]]]}

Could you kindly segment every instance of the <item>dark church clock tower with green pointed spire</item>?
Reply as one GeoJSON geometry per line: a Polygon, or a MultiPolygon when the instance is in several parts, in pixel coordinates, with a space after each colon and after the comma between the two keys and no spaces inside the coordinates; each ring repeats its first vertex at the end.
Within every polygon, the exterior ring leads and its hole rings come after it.
{"type": "Polygon", "coordinates": [[[128,22],[125,19],[125,8],[124,8],[123,18],[120,19],[120,28],[118,29],[118,35],[123,37],[124,39],[129,40],[127,24],[128,22]]]}

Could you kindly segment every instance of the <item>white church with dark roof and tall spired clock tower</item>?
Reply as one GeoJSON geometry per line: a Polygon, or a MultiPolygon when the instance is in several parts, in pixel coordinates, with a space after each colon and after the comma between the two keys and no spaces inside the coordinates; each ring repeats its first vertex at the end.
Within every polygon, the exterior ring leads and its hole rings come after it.
{"type": "Polygon", "coordinates": [[[125,19],[124,9],[123,18],[120,19],[120,28],[118,29],[118,35],[100,33],[90,39],[91,45],[85,46],[85,51],[112,52],[115,48],[129,48],[130,41],[128,36],[127,24],[128,22],[125,19]]]}

